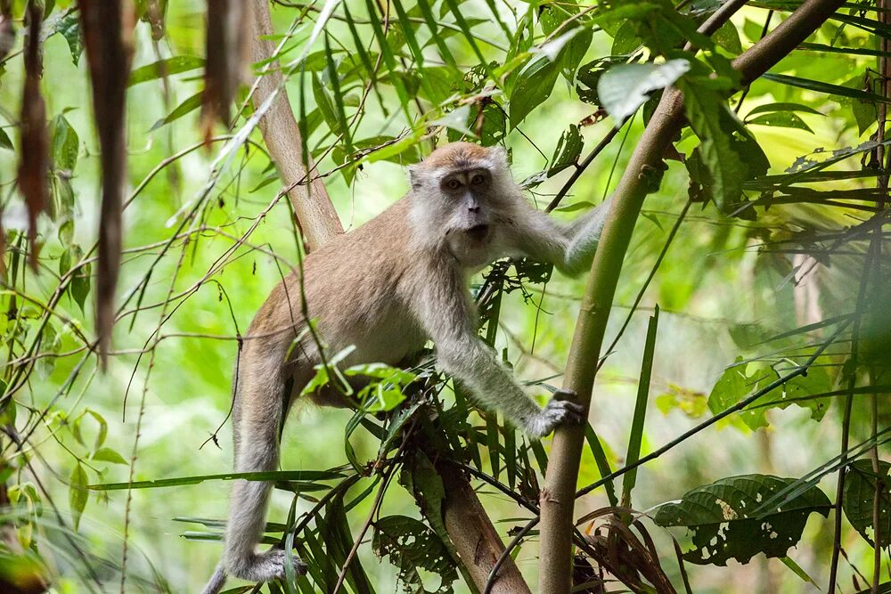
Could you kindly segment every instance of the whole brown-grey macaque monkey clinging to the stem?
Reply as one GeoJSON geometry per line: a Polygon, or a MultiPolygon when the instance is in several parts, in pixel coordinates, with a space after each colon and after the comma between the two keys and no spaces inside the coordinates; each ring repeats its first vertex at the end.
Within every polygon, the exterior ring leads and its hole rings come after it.
{"type": "MultiPolygon", "coordinates": [[[[505,256],[550,262],[568,274],[586,270],[607,208],[572,224],[555,223],[527,202],[500,148],[454,142],[409,171],[405,198],[309,254],[303,278],[291,273],[254,318],[235,382],[236,472],[277,468],[280,423],[321,362],[315,340],[302,332],[301,281],[309,317],[331,353],[356,347],[344,364],[396,364],[432,339],[438,365],[527,435],[584,420],[582,407],[568,400],[552,398],[541,408],[478,338],[468,279],[505,256]]],[[[331,387],[309,398],[346,405],[331,387]]],[[[223,561],[204,594],[216,594],[226,574],[253,582],[284,576],[284,550],[255,551],[270,489],[270,483],[235,482],[223,561]]],[[[294,569],[306,572],[296,557],[294,569]]]]}

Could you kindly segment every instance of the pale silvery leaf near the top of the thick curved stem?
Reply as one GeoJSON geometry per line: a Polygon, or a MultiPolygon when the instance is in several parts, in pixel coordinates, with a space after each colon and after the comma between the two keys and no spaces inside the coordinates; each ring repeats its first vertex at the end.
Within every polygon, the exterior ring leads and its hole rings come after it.
{"type": "Polygon", "coordinates": [[[690,62],[683,59],[614,66],[600,77],[597,95],[618,125],[647,101],[650,92],[671,85],[689,69],[690,62]]]}

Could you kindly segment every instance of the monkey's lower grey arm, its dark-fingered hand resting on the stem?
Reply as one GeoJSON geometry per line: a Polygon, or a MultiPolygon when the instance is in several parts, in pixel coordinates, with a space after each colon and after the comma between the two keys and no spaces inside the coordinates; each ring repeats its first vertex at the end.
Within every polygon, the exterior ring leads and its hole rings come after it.
{"type": "Polygon", "coordinates": [[[416,314],[437,346],[439,365],[470,387],[489,411],[499,411],[527,435],[548,435],[561,423],[584,420],[575,403],[552,399],[540,408],[498,361],[495,351],[477,336],[473,309],[461,273],[452,270],[425,275],[427,282],[415,300],[416,314]]]}

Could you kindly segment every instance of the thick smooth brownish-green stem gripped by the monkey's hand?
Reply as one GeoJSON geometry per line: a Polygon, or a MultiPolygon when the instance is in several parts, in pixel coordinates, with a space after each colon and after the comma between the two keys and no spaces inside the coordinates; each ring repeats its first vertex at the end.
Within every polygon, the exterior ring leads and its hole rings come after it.
{"type": "MultiPolygon", "coordinates": [[[[744,3],[724,4],[724,21],[741,4],[744,3]]],[[[764,74],[842,4],[842,0],[807,0],[799,6],[772,33],[733,61],[743,83],[764,74]]],[[[714,19],[711,21],[713,26],[722,24],[714,19]]],[[[600,357],[622,261],[646,198],[647,173],[659,167],[682,123],[683,97],[677,91],[666,90],[614,194],[585,288],[564,378],[564,387],[577,395],[576,403],[583,405],[585,411],[591,404],[596,362],[600,357]]],[[[584,429],[580,426],[559,427],[554,434],[541,496],[538,590],[543,594],[564,594],[572,588],[573,505],[583,443],[584,429]]]]}

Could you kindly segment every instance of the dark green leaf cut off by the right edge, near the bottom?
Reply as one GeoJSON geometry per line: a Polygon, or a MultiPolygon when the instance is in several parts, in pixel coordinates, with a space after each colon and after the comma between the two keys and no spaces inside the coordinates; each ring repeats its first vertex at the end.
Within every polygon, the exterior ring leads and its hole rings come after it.
{"type": "Polygon", "coordinates": [[[876,500],[876,484],[879,489],[879,540],[882,548],[891,544],[891,464],[879,460],[879,474],[873,472],[871,460],[855,460],[845,476],[845,492],[842,509],[847,521],[872,547],[875,547],[875,527],[872,523],[872,509],[876,500]]]}

